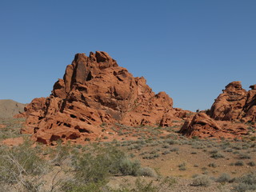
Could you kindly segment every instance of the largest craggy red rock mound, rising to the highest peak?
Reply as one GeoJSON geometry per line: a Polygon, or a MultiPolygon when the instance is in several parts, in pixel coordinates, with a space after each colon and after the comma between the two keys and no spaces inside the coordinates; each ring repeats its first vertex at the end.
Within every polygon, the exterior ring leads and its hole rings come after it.
{"type": "Polygon", "coordinates": [[[84,142],[101,135],[102,123],[170,126],[182,115],[165,93],[154,94],[145,78],[134,78],[105,52],[76,54],[48,98],[27,106],[26,128],[35,141],[84,142]]]}

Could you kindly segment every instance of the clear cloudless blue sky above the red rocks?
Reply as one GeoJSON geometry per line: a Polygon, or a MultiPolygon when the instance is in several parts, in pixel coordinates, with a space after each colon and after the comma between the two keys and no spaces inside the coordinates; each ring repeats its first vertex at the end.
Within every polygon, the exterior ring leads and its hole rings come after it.
{"type": "Polygon", "coordinates": [[[256,84],[256,1],[0,1],[0,98],[46,97],[74,54],[96,50],[205,110],[229,82],[256,84]]]}

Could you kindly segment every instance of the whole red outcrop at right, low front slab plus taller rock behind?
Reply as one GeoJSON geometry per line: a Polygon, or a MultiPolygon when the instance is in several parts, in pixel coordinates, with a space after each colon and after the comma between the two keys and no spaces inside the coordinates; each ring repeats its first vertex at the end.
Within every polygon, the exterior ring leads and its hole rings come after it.
{"type": "Polygon", "coordinates": [[[223,93],[215,99],[207,116],[199,113],[187,120],[180,133],[199,138],[234,138],[248,134],[242,122],[255,122],[256,85],[252,90],[242,89],[241,82],[230,82],[223,93]]]}

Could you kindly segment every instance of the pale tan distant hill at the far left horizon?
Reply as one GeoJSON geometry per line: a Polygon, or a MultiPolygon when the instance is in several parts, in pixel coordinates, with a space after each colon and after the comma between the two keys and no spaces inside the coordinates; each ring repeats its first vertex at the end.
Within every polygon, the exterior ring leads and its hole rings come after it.
{"type": "Polygon", "coordinates": [[[22,113],[24,106],[26,104],[11,99],[0,99],[0,118],[12,118],[15,114],[22,113]]]}

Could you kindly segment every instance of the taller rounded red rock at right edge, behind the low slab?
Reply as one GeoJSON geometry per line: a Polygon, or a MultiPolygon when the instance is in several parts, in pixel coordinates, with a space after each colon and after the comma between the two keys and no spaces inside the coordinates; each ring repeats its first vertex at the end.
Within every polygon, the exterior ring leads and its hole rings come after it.
{"type": "Polygon", "coordinates": [[[256,118],[256,86],[252,90],[242,89],[241,82],[230,82],[223,93],[215,99],[209,115],[215,120],[242,122],[255,121],[256,118]]]}

